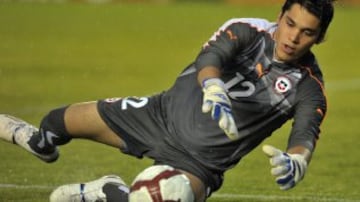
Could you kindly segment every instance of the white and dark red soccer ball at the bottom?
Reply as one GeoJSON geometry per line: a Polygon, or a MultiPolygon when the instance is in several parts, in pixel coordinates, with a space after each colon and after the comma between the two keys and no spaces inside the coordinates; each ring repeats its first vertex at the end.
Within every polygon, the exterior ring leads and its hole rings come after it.
{"type": "Polygon", "coordinates": [[[167,165],[148,167],[131,184],[130,202],[193,202],[189,179],[167,165]]]}

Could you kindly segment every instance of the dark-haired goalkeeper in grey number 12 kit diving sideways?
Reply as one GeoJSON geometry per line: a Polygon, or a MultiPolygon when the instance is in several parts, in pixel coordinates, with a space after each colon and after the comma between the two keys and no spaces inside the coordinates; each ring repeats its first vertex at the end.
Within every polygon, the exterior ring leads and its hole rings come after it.
{"type": "Polygon", "coordinates": [[[76,138],[149,157],[184,172],[196,201],[205,201],[224,172],[293,119],[285,151],[263,146],[280,189],[293,188],[305,175],[326,113],[311,48],[323,41],[332,17],[331,0],[286,0],[276,22],[229,20],[170,89],[61,107],[39,129],[2,115],[0,137],[46,162],[76,138]]]}

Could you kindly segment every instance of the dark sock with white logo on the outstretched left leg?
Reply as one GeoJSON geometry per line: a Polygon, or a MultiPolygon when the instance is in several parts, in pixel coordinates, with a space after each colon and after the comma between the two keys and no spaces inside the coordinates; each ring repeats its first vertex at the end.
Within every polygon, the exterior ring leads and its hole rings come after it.
{"type": "Polygon", "coordinates": [[[64,121],[66,108],[52,110],[43,118],[39,132],[29,140],[33,150],[38,153],[52,153],[57,145],[70,142],[71,136],[66,131],[64,121]]]}

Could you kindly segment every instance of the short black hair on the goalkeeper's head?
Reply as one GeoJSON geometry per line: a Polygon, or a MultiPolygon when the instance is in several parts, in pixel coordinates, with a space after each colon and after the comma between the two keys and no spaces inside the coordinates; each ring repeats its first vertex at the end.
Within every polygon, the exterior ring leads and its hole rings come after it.
{"type": "Polygon", "coordinates": [[[335,1],[336,0],[286,0],[282,6],[281,16],[294,4],[300,4],[300,6],[320,20],[320,35],[316,43],[321,43],[324,40],[326,30],[334,16],[335,1]]]}

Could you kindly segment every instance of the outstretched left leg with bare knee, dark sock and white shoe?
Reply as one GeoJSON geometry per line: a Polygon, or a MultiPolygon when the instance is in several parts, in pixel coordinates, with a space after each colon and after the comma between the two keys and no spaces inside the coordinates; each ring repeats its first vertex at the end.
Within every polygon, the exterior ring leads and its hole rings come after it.
{"type": "Polygon", "coordinates": [[[17,144],[45,162],[54,162],[58,145],[72,138],[86,138],[123,149],[125,143],[101,119],[96,102],[52,110],[40,130],[20,119],[0,115],[0,139],[17,144]]]}

